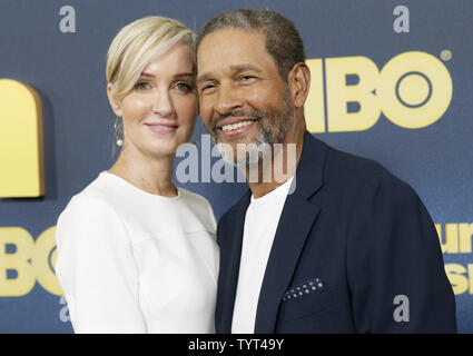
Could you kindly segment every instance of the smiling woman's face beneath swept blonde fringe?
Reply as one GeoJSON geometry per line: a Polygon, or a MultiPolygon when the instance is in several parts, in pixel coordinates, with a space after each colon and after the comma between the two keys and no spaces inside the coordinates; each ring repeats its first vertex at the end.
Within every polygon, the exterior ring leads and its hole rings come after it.
{"type": "Polygon", "coordinates": [[[124,151],[175,155],[187,142],[197,117],[197,96],[189,47],[178,42],[150,62],[115,112],[124,119],[124,151]]]}

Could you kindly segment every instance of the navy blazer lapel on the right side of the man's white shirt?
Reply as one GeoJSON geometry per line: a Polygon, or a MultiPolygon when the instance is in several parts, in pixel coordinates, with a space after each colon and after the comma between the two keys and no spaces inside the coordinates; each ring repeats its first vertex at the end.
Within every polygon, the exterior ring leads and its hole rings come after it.
{"type": "Polygon", "coordinates": [[[305,240],[321,212],[321,207],[307,199],[322,187],[326,150],[325,144],[305,134],[303,152],[293,180],[296,189],[286,198],[266,265],[256,313],[256,334],[275,332],[283,295],[290,286],[305,240]]]}

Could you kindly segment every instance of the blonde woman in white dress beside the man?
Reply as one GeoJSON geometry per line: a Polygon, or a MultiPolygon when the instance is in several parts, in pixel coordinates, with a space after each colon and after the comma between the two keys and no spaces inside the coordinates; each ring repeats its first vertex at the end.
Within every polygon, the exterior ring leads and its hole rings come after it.
{"type": "Polygon", "coordinates": [[[56,274],[76,333],[213,333],[218,249],[208,201],[173,184],[197,117],[195,34],[148,17],[107,58],[122,118],[116,164],[72,197],[57,225],[56,274]]]}

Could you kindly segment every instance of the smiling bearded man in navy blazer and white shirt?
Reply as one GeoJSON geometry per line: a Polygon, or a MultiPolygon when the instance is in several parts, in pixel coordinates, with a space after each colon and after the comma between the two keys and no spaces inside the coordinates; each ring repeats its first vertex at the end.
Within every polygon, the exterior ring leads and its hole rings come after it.
{"type": "Polygon", "coordinates": [[[200,116],[247,178],[263,171],[218,224],[217,332],[456,332],[428,212],[376,162],[306,131],[304,61],[294,24],[269,10],[223,13],[198,36],[200,116]],[[292,177],[263,179],[280,155],[292,177]]]}

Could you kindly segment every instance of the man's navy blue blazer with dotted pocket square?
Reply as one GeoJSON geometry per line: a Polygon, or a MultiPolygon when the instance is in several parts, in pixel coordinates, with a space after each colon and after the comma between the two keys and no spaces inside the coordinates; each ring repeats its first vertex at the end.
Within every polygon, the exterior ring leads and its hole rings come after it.
{"type": "MultiPolygon", "coordinates": [[[[455,333],[435,226],[378,164],[305,134],[267,263],[255,333],[455,333]]],[[[230,333],[248,190],[220,219],[216,330],[230,333]]]]}

